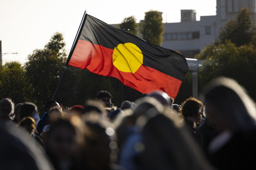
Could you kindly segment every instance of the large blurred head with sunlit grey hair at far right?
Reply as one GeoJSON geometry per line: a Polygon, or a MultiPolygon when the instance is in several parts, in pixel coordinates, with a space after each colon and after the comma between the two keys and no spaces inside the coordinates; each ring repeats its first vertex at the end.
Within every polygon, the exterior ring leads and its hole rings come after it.
{"type": "Polygon", "coordinates": [[[256,127],[254,101],[230,78],[216,78],[203,90],[205,112],[222,130],[248,131],[256,127]]]}

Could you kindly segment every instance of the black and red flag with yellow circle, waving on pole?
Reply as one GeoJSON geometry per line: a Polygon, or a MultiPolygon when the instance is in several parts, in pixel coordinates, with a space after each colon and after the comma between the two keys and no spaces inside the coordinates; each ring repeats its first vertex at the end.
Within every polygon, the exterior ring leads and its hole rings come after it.
{"type": "Polygon", "coordinates": [[[84,16],[67,64],[118,78],[142,93],[161,90],[174,99],[188,70],[183,55],[88,14],[84,16]]]}

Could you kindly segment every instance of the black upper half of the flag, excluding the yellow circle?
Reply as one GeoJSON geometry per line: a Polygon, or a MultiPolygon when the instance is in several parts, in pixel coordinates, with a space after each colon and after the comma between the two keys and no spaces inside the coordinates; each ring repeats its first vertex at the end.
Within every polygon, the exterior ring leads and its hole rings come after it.
{"type": "Polygon", "coordinates": [[[187,60],[183,55],[146,42],[138,36],[114,28],[91,15],[86,14],[84,20],[80,35],[78,35],[80,40],[109,49],[114,49],[120,43],[133,43],[143,53],[143,65],[183,81],[188,70],[187,60]]]}

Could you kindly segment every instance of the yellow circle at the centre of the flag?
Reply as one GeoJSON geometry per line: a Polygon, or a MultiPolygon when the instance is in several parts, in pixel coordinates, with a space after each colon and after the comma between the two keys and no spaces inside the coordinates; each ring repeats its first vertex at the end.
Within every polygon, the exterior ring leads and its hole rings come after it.
{"type": "Polygon", "coordinates": [[[143,64],[143,54],[133,43],[118,44],[113,51],[113,65],[120,71],[135,73],[143,64]]]}

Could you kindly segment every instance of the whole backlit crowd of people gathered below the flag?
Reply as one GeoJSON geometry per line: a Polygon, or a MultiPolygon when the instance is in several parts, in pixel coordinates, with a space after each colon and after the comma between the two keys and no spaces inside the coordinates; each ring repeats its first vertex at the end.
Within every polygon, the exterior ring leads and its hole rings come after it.
{"type": "Polygon", "coordinates": [[[154,90],[118,107],[98,92],[84,105],[0,100],[3,170],[256,169],[255,103],[236,81],[216,78],[200,99],[175,103],[154,90]]]}

